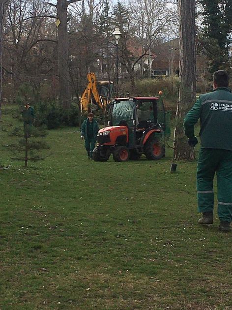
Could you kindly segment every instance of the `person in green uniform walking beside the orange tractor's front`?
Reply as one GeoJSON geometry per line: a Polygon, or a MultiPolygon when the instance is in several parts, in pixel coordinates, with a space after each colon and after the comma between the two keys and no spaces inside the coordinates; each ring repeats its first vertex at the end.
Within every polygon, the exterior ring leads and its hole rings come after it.
{"type": "Polygon", "coordinates": [[[92,158],[92,151],[95,148],[97,133],[99,126],[97,121],[94,120],[94,114],[88,113],[87,119],[82,124],[81,138],[85,139],[85,148],[87,150],[88,158],[92,158]]]}

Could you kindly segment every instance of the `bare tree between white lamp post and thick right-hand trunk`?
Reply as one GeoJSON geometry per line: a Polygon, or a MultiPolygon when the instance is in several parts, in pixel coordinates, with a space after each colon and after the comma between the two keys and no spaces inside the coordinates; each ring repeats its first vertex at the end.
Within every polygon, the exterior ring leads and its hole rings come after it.
{"type": "Polygon", "coordinates": [[[130,77],[132,93],[135,90],[135,71],[138,64],[143,67],[145,55],[148,76],[151,76],[151,49],[154,42],[164,36],[168,21],[165,6],[164,0],[135,0],[130,1],[128,7],[120,2],[114,7],[114,22],[122,33],[118,43],[119,61],[130,77]]]}

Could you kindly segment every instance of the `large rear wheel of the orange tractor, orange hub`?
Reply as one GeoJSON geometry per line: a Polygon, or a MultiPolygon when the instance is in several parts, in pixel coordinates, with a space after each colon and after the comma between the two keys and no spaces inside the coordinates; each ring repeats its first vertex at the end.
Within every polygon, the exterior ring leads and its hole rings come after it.
{"type": "Polygon", "coordinates": [[[165,146],[160,143],[159,139],[152,136],[145,143],[144,154],[149,160],[161,159],[165,155],[165,146]]]}

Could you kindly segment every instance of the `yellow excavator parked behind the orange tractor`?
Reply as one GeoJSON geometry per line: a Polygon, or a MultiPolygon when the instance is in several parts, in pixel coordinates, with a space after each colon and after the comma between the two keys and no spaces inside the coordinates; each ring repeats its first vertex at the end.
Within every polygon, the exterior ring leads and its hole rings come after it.
{"type": "Polygon", "coordinates": [[[81,96],[81,111],[105,110],[113,93],[113,82],[97,81],[93,72],[87,74],[87,87],[81,96]]]}

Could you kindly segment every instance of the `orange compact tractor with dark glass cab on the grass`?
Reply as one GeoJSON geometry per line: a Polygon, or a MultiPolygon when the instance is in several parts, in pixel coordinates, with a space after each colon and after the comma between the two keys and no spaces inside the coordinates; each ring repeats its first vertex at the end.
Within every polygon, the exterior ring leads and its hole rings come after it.
{"type": "Polygon", "coordinates": [[[157,160],[165,156],[165,138],[170,124],[160,97],[114,98],[110,103],[108,127],[97,134],[95,161],[157,160]]]}

